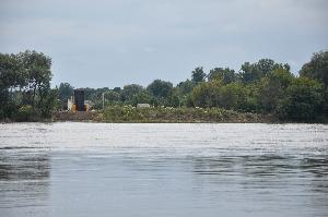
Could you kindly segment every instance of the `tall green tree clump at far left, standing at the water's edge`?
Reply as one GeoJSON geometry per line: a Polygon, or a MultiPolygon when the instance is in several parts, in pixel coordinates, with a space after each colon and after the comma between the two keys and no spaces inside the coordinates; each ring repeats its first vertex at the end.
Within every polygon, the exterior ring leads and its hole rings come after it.
{"type": "Polygon", "coordinates": [[[51,117],[57,91],[50,88],[50,68],[51,59],[36,51],[0,53],[0,120],[51,117]]]}

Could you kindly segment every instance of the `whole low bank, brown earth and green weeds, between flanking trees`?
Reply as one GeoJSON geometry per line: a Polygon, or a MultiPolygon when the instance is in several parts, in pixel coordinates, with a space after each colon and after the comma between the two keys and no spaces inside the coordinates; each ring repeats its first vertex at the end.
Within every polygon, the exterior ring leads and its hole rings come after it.
{"type": "Polygon", "coordinates": [[[54,121],[118,123],[278,122],[270,116],[242,113],[221,108],[136,108],[131,106],[113,106],[103,111],[91,112],[56,112],[54,121]]]}

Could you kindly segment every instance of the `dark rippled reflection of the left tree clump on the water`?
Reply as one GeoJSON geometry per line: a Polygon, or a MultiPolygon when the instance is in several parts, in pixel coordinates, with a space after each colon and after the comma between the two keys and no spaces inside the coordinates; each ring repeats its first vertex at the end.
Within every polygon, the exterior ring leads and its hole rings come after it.
{"type": "Polygon", "coordinates": [[[0,216],[12,216],[12,210],[21,207],[33,209],[45,206],[49,176],[50,161],[47,152],[32,147],[1,146],[0,216]]]}

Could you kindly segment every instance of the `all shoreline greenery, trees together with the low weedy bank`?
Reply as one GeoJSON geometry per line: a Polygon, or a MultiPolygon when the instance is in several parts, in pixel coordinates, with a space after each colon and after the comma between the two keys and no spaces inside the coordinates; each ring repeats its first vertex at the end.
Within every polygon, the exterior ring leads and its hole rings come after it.
{"type": "Polygon", "coordinates": [[[90,114],[66,114],[73,87],[61,83],[51,88],[50,67],[51,59],[36,51],[0,53],[1,121],[85,120],[89,116],[87,120],[106,122],[328,120],[328,51],[314,53],[298,75],[286,63],[261,59],[245,62],[238,72],[214,68],[207,74],[196,68],[191,80],[176,86],[155,80],[147,87],[82,88],[94,104],[90,114]],[[134,108],[138,104],[152,108],[134,108]]]}

